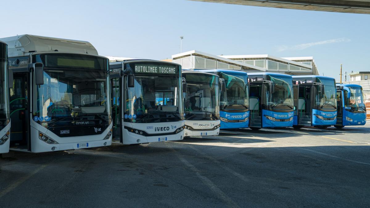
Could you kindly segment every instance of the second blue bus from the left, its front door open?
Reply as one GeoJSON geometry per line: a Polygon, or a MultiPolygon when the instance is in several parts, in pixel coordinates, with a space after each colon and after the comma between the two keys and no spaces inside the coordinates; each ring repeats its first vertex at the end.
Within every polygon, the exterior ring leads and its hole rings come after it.
{"type": "Polygon", "coordinates": [[[292,76],[248,73],[249,128],[282,128],[293,125],[292,76]]]}

